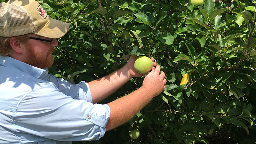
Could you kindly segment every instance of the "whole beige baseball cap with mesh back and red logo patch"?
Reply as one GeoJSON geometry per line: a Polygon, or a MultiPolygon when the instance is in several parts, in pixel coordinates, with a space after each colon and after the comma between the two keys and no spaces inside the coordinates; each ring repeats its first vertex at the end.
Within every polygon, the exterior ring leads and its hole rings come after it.
{"type": "Polygon", "coordinates": [[[49,38],[64,36],[69,24],[50,18],[35,0],[10,0],[0,3],[0,36],[12,37],[28,33],[49,38]]]}

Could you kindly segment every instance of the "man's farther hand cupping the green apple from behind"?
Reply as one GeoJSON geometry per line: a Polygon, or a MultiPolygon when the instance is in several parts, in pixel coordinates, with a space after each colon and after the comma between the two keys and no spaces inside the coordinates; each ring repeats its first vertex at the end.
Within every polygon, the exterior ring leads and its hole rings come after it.
{"type": "MultiPolygon", "coordinates": [[[[128,60],[128,63],[125,65],[127,68],[127,72],[128,72],[128,76],[130,78],[132,77],[140,77],[140,76],[145,76],[147,74],[141,75],[140,73],[138,73],[135,69],[134,69],[134,62],[137,59],[136,55],[131,55],[130,59],[128,60]]],[[[155,69],[156,66],[156,62],[154,61],[153,58],[151,58],[151,60],[153,61],[153,67],[152,69],[155,69]]]]}

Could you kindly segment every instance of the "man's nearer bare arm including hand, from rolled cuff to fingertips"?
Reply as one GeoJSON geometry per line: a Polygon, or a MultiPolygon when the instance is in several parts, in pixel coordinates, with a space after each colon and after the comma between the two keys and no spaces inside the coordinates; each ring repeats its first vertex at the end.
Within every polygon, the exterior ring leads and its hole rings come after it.
{"type": "Polygon", "coordinates": [[[144,79],[143,86],[138,90],[116,99],[110,103],[110,118],[106,131],[126,123],[135,116],[148,102],[160,94],[166,84],[164,72],[160,73],[160,66],[157,65],[144,79]]]}

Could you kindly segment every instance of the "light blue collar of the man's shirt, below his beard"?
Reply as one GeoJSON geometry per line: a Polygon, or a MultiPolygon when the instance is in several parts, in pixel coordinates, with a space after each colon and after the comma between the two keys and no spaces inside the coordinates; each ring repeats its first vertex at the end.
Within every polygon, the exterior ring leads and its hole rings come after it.
{"type": "Polygon", "coordinates": [[[47,68],[45,69],[37,68],[29,64],[26,64],[25,62],[13,59],[8,56],[0,56],[0,64],[3,65],[4,67],[18,69],[36,78],[39,78],[43,72],[45,71],[47,72],[47,68]]]}

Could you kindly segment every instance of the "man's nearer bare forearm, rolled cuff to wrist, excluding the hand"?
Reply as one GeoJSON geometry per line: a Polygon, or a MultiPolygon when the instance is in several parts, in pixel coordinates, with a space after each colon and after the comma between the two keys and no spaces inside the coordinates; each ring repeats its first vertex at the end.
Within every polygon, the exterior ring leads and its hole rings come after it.
{"type": "Polygon", "coordinates": [[[144,87],[140,87],[138,90],[108,103],[110,118],[106,131],[114,129],[132,119],[153,97],[153,93],[150,93],[144,87]]]}

